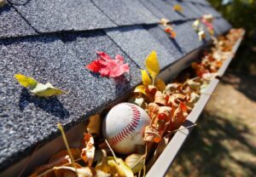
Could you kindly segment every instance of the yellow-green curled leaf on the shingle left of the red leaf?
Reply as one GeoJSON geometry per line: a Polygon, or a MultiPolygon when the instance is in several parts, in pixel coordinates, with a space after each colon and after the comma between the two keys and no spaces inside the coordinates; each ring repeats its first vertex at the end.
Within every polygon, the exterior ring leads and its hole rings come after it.
{"type": "Polygon", "coordinates": [[[54,96],[58,94],[66,94],[65,91],[55,88],[50,83],[38,83],[37,80],[35,80],[32,77],[26,77],[22,74],[15,74],[15,78],[25,88],[28,88],[32,94],[35,94],[37,96],[41,97],[49,97],[54,96]]]}

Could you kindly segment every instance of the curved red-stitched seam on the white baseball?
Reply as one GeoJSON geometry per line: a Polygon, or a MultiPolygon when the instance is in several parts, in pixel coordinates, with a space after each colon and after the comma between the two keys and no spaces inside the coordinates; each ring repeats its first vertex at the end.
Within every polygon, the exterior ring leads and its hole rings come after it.
{"type": "Polygon", "coordinates": [[[122,140],[125,140],[125,138],[129,136],[137,128],[137,125],[141,120],[141,113],[137,109],[137,106],[134,106],[129,103],[124,103],[124,104],[131,107],[132,119],[131,119],[131,122],[119,132],[119,134],[116,134],[115,136],[110,138],[109,140],[110,146],[116,146],[117,144],[119,144],[119,142],[121,142],[122,140]]]}

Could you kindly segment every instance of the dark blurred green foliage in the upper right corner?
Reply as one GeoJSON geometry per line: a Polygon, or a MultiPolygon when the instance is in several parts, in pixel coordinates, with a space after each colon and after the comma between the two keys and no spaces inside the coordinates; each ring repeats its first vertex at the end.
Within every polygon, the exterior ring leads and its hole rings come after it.
{"type": "Polygon", "coordinates": [[[256,74],[256,0],[208,0],[233,27],[244,28],[246,36],[231,67],[256,74]]]}

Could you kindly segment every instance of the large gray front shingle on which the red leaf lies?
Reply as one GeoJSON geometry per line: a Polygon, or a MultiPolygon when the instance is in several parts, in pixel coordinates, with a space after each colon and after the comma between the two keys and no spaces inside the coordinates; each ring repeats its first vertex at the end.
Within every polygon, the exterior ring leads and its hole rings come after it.
{"type": "Polygon", "coordinates": [[[99,111],[140,82],[137,66],[108,36],[94,32],[73,39],[62,43],[47,36],[0,42],[0,168],[17,162],[39,142],[56,135],[56,123],[71,127],[82,121],[82,115],[99,111]],[[96,59],[96,50],[125,56],[130,74],[111,79],[90,73],[84,66],[96,59]],[[52,83],[68,94],[51,99],[32,96],[15,81],[18,72],[52,83]]]}

